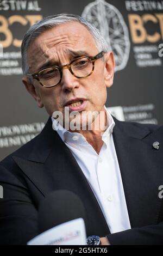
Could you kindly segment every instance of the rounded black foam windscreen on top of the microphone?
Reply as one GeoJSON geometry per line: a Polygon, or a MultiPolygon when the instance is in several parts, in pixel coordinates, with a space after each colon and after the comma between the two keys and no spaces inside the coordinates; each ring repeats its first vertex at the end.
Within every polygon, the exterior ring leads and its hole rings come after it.
{"type": "Polygon", "coordinates": [[[76,218],[85,221],[84,205],[76,194],[68,190],[49,193],[39,206],[39,233],[76,218]]]}

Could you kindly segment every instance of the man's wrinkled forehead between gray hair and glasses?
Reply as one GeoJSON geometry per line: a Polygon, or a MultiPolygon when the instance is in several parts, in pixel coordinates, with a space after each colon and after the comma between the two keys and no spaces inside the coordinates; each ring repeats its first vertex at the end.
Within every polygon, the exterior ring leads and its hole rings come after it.
{"type": "MultiPolygon", "coordinates": [[[[91,41],[89,40],[88,43],[83,34],[78,34],[78,30],[72,31],[72,29],[68,29],[65,31],[65,29],[60,29],[59,31],[56,31],[56,29],[54,28],[51,29],[50,32],[51,34],[49,34],[49,32],[47,31],[47,36],[45,36],[46,32],[43,33],[34,41],[33,47],[34,51],[36,50],[36,52],[31,58],[31,64],[33,68],[37,70],[40,69],[41,66],[45,66],[46,64],[53,62],[54,65],[55,63],[58,63],[59,65],[67,64],[67,61],[69,61],[69,59],[77,56],[77,54],[73,54],[73,52],[82,52],[81,50],[85,51],[86,48],[83,48],[83,45],[85,44],[95,44],[95,41],[90,33],[89,37],[91,36],[91,41]]],[[[79,56],[82,55],[79,54],[79,56]]]]}

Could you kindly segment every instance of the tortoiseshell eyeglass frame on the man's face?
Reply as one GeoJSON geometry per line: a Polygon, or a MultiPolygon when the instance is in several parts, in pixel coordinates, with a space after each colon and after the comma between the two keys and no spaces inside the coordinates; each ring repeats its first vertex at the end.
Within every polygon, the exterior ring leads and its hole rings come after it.
{"type": "Polygon", "coordinates": [[[96,60],[102,58],[103,55],[104,55],[104,53],[105,53],[104,51],[101,51],[101,52],[97,53],[97,54],[96,54],[95,56],[93,56],[93,57],[92,57],[92,56],[81,56],[81,57],[77,57],[77,58],[73,59],[69,64],[65,64],[65,65],[61,65],[61,66],[56,66],[56,65],[48,66],[47,68],[40,69],[39,71],[37,71],[37,72],[35,72],[35,73],[33,73],[33,74],[28,74],[28,73],[27,73],[26,75],[27,75],[27,76],[32,76],[33,79],[36,79],[36,80],[41,84],[41,86],[43,86],[43,87],[52,88],[52,87],[58,86],[58,84],[61,82],[61,80],[62,80],[62,69],[63,69],[63,68],[67,68],[67,69],[71,72],[71,74],[72,74],[73,76],[77,77],[77,78],[85,78],[85,77],[90,76],[90,75],[93,73],[94,69],[95,69],[95,62],[96,62],[96,60]],[[73,71],[72,71],[72,69],[71,69],[71,65],[72,65],[72,63],[75,62],[76,60],[78,60],[78,59],[83,59],[83,58],[87,58],[87,59],[91,60],[91,62],[92,62],[92,71],[91,71],[90,74],[87,75],[87,76],[78,77],[78,76],[76,76],[76,75],[73,74],[73,71]],[[57,68],[57,69],[59,70],[59,72],[60,72],[60,80],[59,80],[59,82],[58,82],[57,84],[55,84],[54,86],[45,86],[45,84],[42,84],[42,83],[40,82],[39,74],[40,74],[40,72],[42,72],[42,71],[44,71],[44,70],[47,70],[47,69],[51,69],[51,68],[57,68]]]}

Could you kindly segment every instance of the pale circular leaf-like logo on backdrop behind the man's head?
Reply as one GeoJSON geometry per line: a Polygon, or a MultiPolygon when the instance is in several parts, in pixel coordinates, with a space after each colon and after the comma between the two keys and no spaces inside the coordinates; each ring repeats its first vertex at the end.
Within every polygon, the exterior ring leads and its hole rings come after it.
{"type": "Polygon", "coordinates": [[[99,29],[114,52],[115,71],[124,69],[129,58],[130,40],[127,25],[120,11],[104,0],[96,0],[86,5],[82,16],[99,29]]]}

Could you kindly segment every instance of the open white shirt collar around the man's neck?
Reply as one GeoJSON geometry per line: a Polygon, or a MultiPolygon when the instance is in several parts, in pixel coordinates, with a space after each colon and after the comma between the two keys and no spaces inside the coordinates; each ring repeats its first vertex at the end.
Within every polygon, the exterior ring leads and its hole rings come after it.
{"type": "MultiPolygon", "coordinates": [[[[108,108],[105,108],[105,112],[106,112],[106,130],[103,133],[102,137],[105,137],[107,135],[110,135],[110,133],[112,133],[114,126],[115,126],[115,121],[112,118],[111,114],[108,111],[108,108]]],[[[78,132],[70,132],[67,131],[66,129],[64,129],[64,127],[62,127],[57,120],[55,120],[52,117],[52,127],[53,130],[57,131],[58,135],[60,136],[60,138],[62,139],[62,141],[64,142],[84,142],[86,141],[83,135],[80,135],[80,133],[78,132]],[[76,138],[78,137],[78,139],[76,140],[76,138]]]]}

